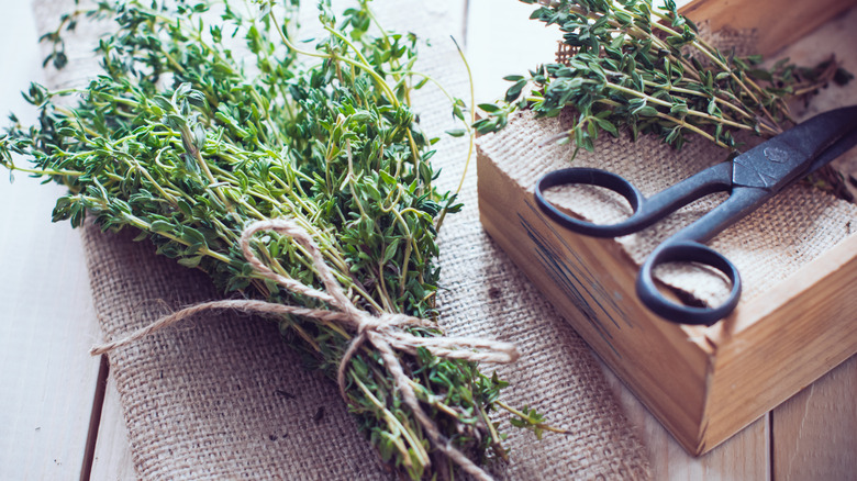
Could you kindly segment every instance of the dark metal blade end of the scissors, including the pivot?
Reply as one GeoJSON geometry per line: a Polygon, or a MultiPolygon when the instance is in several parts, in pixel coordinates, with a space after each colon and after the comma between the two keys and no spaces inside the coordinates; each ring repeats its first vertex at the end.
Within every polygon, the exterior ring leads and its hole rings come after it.
{"type": "Polygon", "coordinates": [[[733,160],[733,184],[779,191],[857,144],[857,105],[795,125],[733,160]]]}

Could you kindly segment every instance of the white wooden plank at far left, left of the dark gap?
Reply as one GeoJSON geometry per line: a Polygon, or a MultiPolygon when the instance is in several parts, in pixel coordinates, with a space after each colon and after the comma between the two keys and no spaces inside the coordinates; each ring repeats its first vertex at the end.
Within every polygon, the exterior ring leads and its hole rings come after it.
{"type": "MultiPolygon", "coordinates": [[[[42,77],[31,1],[4,3],[0,59],[4,126],[42,77]]],[[[99,369],[87,351],[99,334],[80,237],[49,222],[62,192],[20,174],[0,183],[0,479],[81,473],[99,369]]]]}

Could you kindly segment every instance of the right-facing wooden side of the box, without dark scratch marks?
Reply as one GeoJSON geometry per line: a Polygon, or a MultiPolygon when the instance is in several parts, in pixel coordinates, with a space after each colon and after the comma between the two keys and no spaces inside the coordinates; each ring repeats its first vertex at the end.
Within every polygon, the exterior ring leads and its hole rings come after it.
{"type": "Polygon", "coordinates": [[[705,413],[732,436],[857,353],[857,235],[804,266],[709,335],[717,346],[705,413]],[[758,320],[748,325],[748,320],[758,320]],[[736,402],[739,400],[739,402],[736,402]]]}

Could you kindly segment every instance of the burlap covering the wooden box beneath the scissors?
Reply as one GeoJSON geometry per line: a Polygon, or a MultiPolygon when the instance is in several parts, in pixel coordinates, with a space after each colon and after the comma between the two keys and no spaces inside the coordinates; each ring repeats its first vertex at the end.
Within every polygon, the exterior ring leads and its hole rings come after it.
{"type": "MultiPolygon", "coordinates": [[[[581,149],[572,160],[574,145],[544,144],[544,139],[569,130],[575,121],[575,115],[568,111],[554,119],[536,119],[532,112],[519,113],[500,133],[481,137],[479,153],[523,189],[532,190],[541,176],[555,169],[596,167],[621,175],[646,197],[721,163],[727,156],[726,152],[702,138],[694,138],[675,150],[655,136],[642,136],[633,142],[628,135],[613,138],[604,134],[598,139],[594,153],[581,149]]],[[[549,191],[548,199],[596,223],[615,223],[631,213],[624,199],[602,189],[560,188],[549,191]]],[[[616,243],[633,262],[642,265],[658,244],[725,199],[725,193],[700,199],[639,233],[616,238],[616,243]]],[[[798,183],[717,235],[709,245],[738,268],[744,286],[742,301],[747,301],[844,240],[857,228],[855,221],[857,205],[798,183]]],[[[727,281],[719,275],[691,265],[666,265],[657,268],[655,275],[675,289],[714,305],[728,292],[727,281]]]]}

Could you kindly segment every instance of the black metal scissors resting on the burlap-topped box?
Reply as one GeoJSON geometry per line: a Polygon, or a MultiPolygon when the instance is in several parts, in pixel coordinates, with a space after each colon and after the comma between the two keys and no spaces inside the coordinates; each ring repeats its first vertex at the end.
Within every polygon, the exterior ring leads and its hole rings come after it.
{"type": "Polygon", "coordinates": [[[727,316],[741,298],[738,269],[705,246],[721,231],[755,211],[787,186],[828,164],[857,145],[857,105],[819,114],[732,160],[704,169],[650,198],[624,178],[600,169],[567,168],[543,176],[535,186],[542,211],[569,231],[593,237],[620,237],[642,231],[678,209],[714,192],[728,199],[664,240],[646,258],[636,280],[639,300],[659,316],[680,324],[712,325],[727,316]],[[610,189],[627,200],[634,213],[612,225],[571,217],[545,199],[545,191],[564,184],[610,189]],[[666,262],[697,262],[722,272],[731,282],[726,300],[716,306],[691,306],[667,299],[655,286],[653,270],[666,262]]]}

